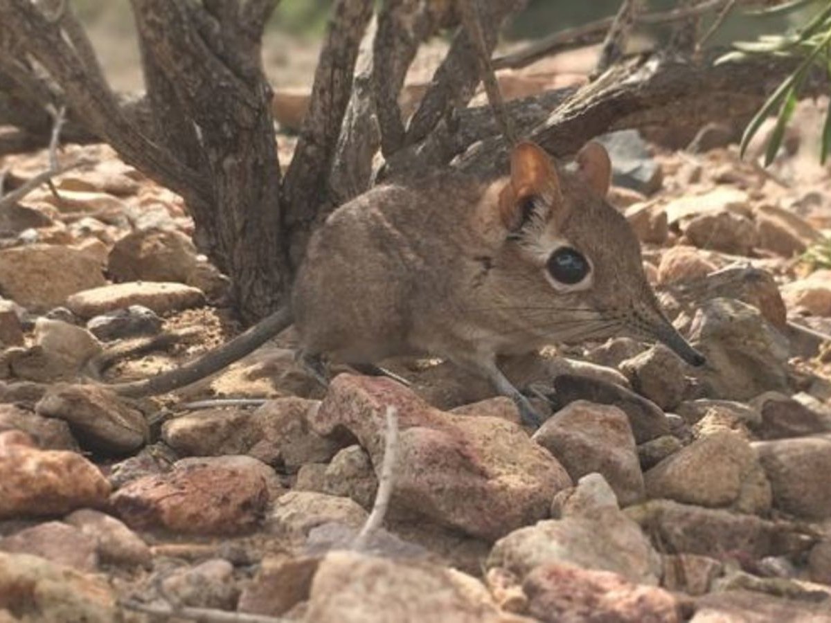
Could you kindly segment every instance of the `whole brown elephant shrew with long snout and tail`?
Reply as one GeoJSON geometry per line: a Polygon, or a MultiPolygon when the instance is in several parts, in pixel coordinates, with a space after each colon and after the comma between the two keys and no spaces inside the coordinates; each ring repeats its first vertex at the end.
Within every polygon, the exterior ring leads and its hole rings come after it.
{"type": "Polygon", "coordinates": [[[309,243],[290,312],[275,312],[193,365],[116,390],[147,395],[186,385],[292,318],[306,361],[439,356],[487,378],[534,424],[497,356],[629,334],[703,364],[661,312],[632,228],[604,200],[606,150],[583,147],[573,173],[558,171],[532,143],[517,145],[510,159],[507,178],[438,174],[379,186],[337,208],[309,243]]]}

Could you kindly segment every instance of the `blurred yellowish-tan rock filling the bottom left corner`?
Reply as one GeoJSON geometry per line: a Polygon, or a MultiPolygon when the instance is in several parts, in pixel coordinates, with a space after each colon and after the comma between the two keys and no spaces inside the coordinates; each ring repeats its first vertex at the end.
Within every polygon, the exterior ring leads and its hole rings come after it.
{"type": "MultiPolygon", "coordinates": [[[[120,616],[106,578],[42,557],[0,552],[2,607],[28,623],[112,623],[120,616]]],[[[0,611],[2,612],[2,611],[0,611]]]]}

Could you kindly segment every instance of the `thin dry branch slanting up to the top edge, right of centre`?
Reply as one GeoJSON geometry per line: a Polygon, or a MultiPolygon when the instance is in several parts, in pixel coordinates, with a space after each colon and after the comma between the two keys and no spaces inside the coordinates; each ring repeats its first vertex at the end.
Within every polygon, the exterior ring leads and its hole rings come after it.
{"type": "MultiPolygon", "coordinates": [[[[644,13],[639,17],[638,21],[642,24],[650,24],[653,26],[676,22],[687,17],[696,17],[711,12],[720,7],[724,1],[706,0],[706,2],[701,2],[701,4],[697,4],[695,7],[674,8],[671,11],[644,13]]],[[[612,26],[612,22],[614,22],[614,17],[604,17],[596,22],[583,24],[583,26],[555,32],[550,37],[546,37],[542,41],[526,47],[524,50],[495,58],[492,65],[494,69],[519,69],[520,67],[529,66],[543,56],[548,56],[568,47],[601,42],[606,32],[608,32],[609,27],[612,26]]]]}

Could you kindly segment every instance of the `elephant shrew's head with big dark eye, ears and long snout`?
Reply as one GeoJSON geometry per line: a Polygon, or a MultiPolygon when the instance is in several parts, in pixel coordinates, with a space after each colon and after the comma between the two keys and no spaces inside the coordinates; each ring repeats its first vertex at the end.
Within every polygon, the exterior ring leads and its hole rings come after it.
{"type": "Polygon", "coordinates": [[[573,173],[558,172],[537,145],[514,148],[509,180],[491,207],[504,237],[500,296],[551,341],[632,335],[703,364],[661,312],[635,233],[604,199],[612,170],[606,150],[589,143],[576,164],[573,173]]]}

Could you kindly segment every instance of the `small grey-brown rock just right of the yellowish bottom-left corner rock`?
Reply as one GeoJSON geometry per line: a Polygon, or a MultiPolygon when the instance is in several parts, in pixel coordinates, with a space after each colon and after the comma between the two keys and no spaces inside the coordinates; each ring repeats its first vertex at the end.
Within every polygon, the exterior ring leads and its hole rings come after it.
{"type": "Polygon", "coordinates": [[[176,603],[194,608],[234,610],[239,596],[234,565],[222,558],[173,571],[161,581],[161,588],[176,603]]]}

